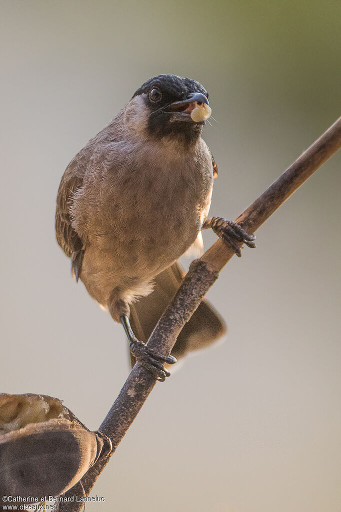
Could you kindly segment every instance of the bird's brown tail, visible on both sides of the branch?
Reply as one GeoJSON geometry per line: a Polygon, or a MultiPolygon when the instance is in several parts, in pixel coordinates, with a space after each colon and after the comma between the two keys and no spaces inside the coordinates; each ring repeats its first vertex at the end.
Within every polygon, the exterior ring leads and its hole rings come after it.
{"type": "MultiPolygon", "coordinates": [[[[130,306],[130,322],[135,335],[146,342],[158,319],[183,281],[185,271],[178,261],[158,274],[154,291],[130,306]]],[[[226,332],[226,326],[217,311],[204,300],[193,313],[177,337],[172,355],[177,359],[188,352],[211,345],[226,332]]],[[[131,359],[132,366],[135,359],[131,359]]]]}

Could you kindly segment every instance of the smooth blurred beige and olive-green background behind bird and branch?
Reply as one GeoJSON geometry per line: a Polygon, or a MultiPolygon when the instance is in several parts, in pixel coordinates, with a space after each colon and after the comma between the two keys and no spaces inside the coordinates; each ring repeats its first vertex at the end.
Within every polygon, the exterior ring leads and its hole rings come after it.
{"type": "MultiPolygon", "coordinates": [[[[97,429],[128,344],[55,241],[67,163],[146,79],[188,76],[217,120],[204,129],[219,167],[211,214],[235,219],[340,115],[340,4],[0,9],[0,390],[57,396],[97,429]]],[[[338,153],[221,272],[208,296],[228,336],[156,385],[87,512],[339,512],[340,164],[338,153]]]]}

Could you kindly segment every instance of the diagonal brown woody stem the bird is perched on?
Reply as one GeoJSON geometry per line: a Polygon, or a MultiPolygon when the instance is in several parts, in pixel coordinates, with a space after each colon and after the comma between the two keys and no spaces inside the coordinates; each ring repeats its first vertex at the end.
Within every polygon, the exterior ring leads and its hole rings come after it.
{"type": "MultiPolygon", "coordinates": [[[[340,147],[341,117],[295,160],[251,206],[244,210],[236,222],[241,224],[246,231],[254,232],[340,147]]],[[[232,258],[233,254],[232,249],[218,240],[203,254],[200,260],[192,263],[172,302],[152,332],[148,346],[165,354],[171,352],[179,332],[217,279],[218,272],[232,258]]],[[[111,439],[113,451],[110,456],[138,415],[154,385],[155,379],[136,364],[99,428],[100,432],[111,439]]],[[[100,459],[83,477],[82,486],[87,496],[109,457],[100,459]]],[[[84,496],[82,486],[75,485],[65,496],[84,496]]],[[[82,503],[76,503],[75,498],[73,503],[60,503],[59,511],[76,512],[81,507],[82,503]]]]}

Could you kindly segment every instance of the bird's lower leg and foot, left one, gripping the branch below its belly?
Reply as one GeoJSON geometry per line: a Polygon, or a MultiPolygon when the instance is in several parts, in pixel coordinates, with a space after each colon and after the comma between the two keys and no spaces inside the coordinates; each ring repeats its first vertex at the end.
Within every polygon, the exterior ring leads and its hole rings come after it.
{"type": "Polygon", "coordinates": [[[172,365],[176,362],[175,357],[160,354],[160,352],[140,342],[131,329],[128,315],[121,314],[120,321],[129,340],[130,352],[140,365],[152,373],[158,380],[164,381],[166,377],[169,377],[170,373],[166,370],[163,363],[167,362],[169,365],[172,365]]]}

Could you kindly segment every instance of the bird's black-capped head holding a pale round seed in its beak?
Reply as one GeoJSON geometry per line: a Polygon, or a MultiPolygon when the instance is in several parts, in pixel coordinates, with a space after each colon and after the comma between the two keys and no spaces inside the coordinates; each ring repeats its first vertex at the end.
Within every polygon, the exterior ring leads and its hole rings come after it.
{"type": "Polygon", "coordinates": [[[133,95],[144,111],[146,130],[156,139],[170,137],[195,144],[211,115],[208,92],[201,83],[177,75],[147,80],[133,95]]]}

